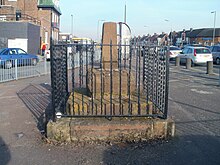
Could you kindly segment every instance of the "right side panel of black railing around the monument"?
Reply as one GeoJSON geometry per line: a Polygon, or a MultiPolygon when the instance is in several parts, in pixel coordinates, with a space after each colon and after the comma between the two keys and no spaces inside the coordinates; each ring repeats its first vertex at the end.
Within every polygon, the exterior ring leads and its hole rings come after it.
{"type": "Polygon", "coordinates": [[[144,90],[154,113],[167,118],[169,88],[169,47],[150,46],[144,49],[144,90]],[[158,112],[159,111],[159,112],[158,112]]]}

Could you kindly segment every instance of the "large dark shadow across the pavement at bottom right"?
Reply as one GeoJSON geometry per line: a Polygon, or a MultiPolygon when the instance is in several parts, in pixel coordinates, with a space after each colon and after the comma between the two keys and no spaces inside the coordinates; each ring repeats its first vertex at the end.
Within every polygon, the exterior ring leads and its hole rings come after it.
{"type": "Polygon", "coordinates": [[[214,136],[182,136],[169,141],[115,144],[104,152],[103,164],[220,164],[220,141],[214,136]]]}

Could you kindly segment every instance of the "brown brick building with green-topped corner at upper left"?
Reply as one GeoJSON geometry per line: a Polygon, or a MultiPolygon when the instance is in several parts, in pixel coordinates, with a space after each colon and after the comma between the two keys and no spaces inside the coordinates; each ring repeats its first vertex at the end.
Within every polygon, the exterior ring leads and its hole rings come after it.
{"type": "Polygon", "coordinates": [[[60,31],[59,0],[0,0],[0,21],[22,21],[40,25],[41,42],[57,42],[60,31]]]}

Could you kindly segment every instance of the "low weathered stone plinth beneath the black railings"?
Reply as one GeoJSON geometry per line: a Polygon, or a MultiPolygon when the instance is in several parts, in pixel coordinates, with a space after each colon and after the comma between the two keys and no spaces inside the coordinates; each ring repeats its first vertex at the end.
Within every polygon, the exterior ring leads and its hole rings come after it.
{"type": "Polygon", "coordinates": [[[175,133],[171,119],[150,118],[61,118],[47,124],[49,140],[61,142],[133,142],[170,138],[175,133]]]}

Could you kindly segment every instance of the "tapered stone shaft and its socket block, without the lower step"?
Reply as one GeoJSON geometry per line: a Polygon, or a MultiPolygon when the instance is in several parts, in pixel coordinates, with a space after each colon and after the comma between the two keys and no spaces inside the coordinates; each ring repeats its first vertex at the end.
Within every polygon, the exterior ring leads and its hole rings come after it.
{"type": "Polygon", "coordinates": [[[103,25],[102,63],[100,69],[89,71],[87,87],[94,98],[128,97],[135,90],[135,79],[129,76],[128,69],[118,67],[117,24],[107,22],[103,25]],[[112,66],[111,66],[112,65],[112,66]],[[112,76],[111,76],[112,74],[112,76]],[[92,77],[92,79],[91,79],[92,77]],[[130,79],[130,85],[128,85],[130,79]],[[92,82],[92,81],[93,82],[92,82]],[[111,88],[112,87],[112,88],[111,88]],[[130,91],[130,92],[129,92],[130,91]]]}

